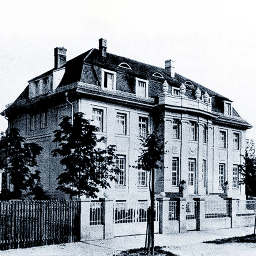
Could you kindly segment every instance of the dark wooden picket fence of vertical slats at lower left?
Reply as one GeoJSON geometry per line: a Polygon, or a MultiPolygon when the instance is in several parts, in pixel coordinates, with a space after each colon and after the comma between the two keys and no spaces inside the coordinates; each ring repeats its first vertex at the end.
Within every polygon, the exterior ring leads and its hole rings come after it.
{"type": "Polygon", "coordinates": [[[0,250],[80,241],[79,200],[0,202],[0,250]]]}

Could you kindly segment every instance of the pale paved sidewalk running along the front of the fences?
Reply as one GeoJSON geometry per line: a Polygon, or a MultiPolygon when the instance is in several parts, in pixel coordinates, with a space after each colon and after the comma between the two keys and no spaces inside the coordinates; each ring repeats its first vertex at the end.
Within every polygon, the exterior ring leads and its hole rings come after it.
{"type": "MultiPolygon", "coordinates": [[[[209,254],[206,252],[206,248],[221,248],[218,245],[212,244],[201,244],[204,241],[211,241],[217,238],[227,238],[234,236],[244,236],[246,234],[252,234],[253,227],[242,227],[234,229],[218,229],[209,231],[187,231],[186,233],[174,233],[174,234],[155,234],[155,245],[166,246],[166,250],[173,253],[177,253],[181,256],[186,255],[229,255],[225,254],[209,254]],[[207,247],[208,246],[208,247],[207,247]],[[200,251],[201,250],[201,251],[200,251]],[[199,253],[200,251],[200,253],[199,253]]],[[[39,246],[26,249],[12,249],[7,251],[0,251],[2,255],[40,255],[40,256],[110,256],[114,252],[120,252],[126,249],[141,248],[145,244],[145,235],[140,236],[128,236],[128,237],[115,237],[107,240],[94,240],[94,241],[83,241],[76,243],[68,243],[61,245],[48,245],[39,246]]],[[[241,245],[241,244],[240,244],[241,245]]],[[[237,246],[237,245],[234,245],[237,246]]],[[[246,245],[241,245],[246,246],[246,245]]],[[[241,247],[240,246],[240,247],[241,247]]],[[[251,245],[250,245],[251,246],[251,245]]],[[[251,246],[252,247],[252,246],[251,246]]],[[[251,249],[251,247],[249,249],[251,249]]],[[[245,249],[241,247],[244,251],[245,249]]],[[[252,248],[253,254],[246,256],[256,255],[256,247],[252,248]]],[[[224,250],[225,251],[225,250],[224,250]]],[[[224,251],[219,253],[224,253],[224,251]]],[[[230,254],[239,255],[239,254],[230,254]]]]}

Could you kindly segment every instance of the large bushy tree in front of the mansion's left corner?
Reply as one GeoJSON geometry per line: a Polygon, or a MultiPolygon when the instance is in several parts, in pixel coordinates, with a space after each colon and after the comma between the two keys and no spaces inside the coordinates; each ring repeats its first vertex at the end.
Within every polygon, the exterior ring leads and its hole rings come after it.
{"type": "Polygon", "coordinates": [[[104,150],[97,148],[97,143],[104,138],[97,138],[98,128],[83,118],[83,113],[75,114],[73,125],[69,120],[64,117],[60,129],[54,131],[53,142],[57,142],[59,148],[52,151],[53,156],[59,155],[64,166],[64,172],[57,178],[57,189],[71,198],[82,195],[95,198],[99,187],[110,187],[109,181],[118,173],[114,162],[116,146],[110,145],[104,150]]]}

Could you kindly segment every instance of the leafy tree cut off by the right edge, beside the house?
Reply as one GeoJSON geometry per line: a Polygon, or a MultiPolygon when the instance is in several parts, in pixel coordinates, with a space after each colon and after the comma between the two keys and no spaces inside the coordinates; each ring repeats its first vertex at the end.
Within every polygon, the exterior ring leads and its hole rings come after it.
{"type": "Polygon", "coordinates": [[[239,166],[241,173],[240,184],[245,184],[247,196],[256,196],[256,157],[253,140],[246,140],[244,164],[239,166]]]}

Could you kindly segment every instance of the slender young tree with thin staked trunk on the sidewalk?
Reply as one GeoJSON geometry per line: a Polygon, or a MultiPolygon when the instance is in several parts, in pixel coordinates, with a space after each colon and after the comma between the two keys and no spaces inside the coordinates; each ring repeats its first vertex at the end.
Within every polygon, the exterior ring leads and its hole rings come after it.
{"type": "Polygon", "coordinates": [[[163,153],[162,141],[157,131],[142,139],[141,155],[138,158],[138,169],[149,172],[150,207],[148,209],[148,223],[146,234],[147,255],[154,255],[154,215],[155,215],[155,170],[160,168],[163,153]]]}

